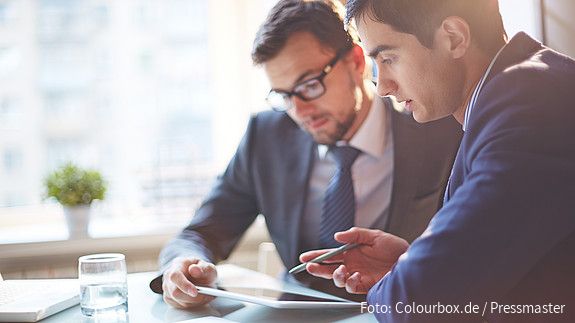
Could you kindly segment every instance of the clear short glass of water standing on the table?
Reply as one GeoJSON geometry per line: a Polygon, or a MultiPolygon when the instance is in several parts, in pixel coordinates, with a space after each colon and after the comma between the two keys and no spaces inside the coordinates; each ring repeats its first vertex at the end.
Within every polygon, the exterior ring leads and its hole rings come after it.
{"type": "Polygon", "coordinates": [[[102,253],[78,259],[80,308],[94,316],[109,312],[128,312],[126,258],[121,253],[102,253]]]}

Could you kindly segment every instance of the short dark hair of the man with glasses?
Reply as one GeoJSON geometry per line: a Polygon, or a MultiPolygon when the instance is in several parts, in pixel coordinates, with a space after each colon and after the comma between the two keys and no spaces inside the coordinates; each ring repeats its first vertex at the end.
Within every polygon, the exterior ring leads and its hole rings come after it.
{"type": "Polygon", "coordinates": [[[353,27],[343,23],[338,0],[280,0],[259,28],[252,49],[254,64],[274,58],[293,34],[309,32],[324,46],[339,51],[357,43],[353,27]]]}

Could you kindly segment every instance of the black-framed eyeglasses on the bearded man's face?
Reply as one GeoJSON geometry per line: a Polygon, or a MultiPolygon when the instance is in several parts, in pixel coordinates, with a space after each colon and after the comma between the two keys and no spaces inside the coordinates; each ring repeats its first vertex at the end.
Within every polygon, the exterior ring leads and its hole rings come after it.
{"type": "Polygon", "coordinates": [[[323,83],[323,79],[333,70],[335,64],[337,64],[340,58],[342,58],[349,49],[350,48],[344,48],[340,50],[335,57],[327,63],[318,76],[296,84],[293,90],[282,91],[271,89],[266,97],[267,103],[273,110],[284,112],[293,107],[291,100],[292,96],[296,96],[303,101],[311,101],[319,98],[325,93],[325,84],[323,83]]]}

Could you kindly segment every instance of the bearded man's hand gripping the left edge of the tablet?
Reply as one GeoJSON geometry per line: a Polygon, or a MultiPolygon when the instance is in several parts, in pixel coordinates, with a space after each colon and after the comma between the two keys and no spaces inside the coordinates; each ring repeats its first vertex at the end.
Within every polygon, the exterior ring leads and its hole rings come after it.
{"type": "Polygon", "coordinates": [[[175,308],[192,308],[214,297],[198,294],[196,285],[213,286],[218,277],[216,266],[196,258],[178,257],[164,272],[164,301],[175,308]]]}

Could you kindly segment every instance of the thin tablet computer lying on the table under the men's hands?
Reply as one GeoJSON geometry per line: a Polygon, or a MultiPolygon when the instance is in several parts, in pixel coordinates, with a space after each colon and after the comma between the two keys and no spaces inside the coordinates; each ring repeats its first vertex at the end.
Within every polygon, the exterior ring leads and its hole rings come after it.
{"type": "Polygon", "coordinates": [[[260,287],[200,287],[204,295],[232,298],[274,308],[354,308],[361,304],[344,299],[331,299],[260,287]]]}

